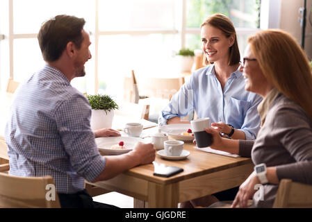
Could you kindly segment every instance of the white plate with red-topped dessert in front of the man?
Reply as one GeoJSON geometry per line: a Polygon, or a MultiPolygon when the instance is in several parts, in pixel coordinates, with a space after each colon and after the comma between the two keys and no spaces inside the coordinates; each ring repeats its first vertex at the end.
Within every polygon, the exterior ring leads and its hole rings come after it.
{"type": "Polygon", "coordinates": [[[95,139],[97,147],[103,155],[120,155],[131,151],[137,142],[145,142],[140,137],[99,137],[95,139]],[[113,149],[111,146],[124,142],[125,149],[113,149]]]}

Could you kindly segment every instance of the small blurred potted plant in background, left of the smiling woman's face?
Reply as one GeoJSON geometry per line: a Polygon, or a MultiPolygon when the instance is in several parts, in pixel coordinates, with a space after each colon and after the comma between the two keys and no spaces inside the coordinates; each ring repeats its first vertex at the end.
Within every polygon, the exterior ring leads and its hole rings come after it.
{"type": "Polygon", "coordinates": [[[180,49],[180,51],[176,53],[176,59],[181,72],[192,71],[194,56],[194,51],[191,51],[190,49],[180,49]]]}

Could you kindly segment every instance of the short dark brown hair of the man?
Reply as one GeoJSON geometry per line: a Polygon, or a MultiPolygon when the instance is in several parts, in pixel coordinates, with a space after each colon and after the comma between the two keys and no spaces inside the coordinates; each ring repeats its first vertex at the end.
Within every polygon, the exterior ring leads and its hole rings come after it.
{"type": "Polygon", "coordinates": [[[84,25],[85,19],[69,15],[57,15],[44,22],[38,33],[43,59],[47,62],[58,60],[68,42],[73,42],[80,49],[84,25]]]}

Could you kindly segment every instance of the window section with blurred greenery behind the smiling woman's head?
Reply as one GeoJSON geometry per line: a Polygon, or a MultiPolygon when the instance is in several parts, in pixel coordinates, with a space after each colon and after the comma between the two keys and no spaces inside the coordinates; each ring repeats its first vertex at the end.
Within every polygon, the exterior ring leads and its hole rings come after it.
{"type": "Polygon", "coordinates": [[[261,0],[188,0],[186,8],[186,47],[190,49],[200,49],[199,26],[216,12],[227,15],[236,27],[240,53],[245,49],[248,35],[260,27],[261,0]]]}

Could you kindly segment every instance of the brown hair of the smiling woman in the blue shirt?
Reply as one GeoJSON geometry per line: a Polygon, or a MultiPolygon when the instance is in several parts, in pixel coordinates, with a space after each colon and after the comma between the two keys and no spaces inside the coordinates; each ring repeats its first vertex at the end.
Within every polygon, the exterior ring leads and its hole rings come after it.
{"type": "MultiPolygon", "coordinates": [[[[234,43],[229,47],[229,66],[236,65],[240,62],[240,49],[238,49],[237,36],[233,23],[229,17],[222,15],[220,13],[215,13],[209,16],[205,22],[202,23],[202,26],[210,25],[215,28],[218,28],[224,33],[226,37],[234,36],[234,43]]],[[[209,65],[207,58],[204,59],[204,65],[209,65]]]]}

